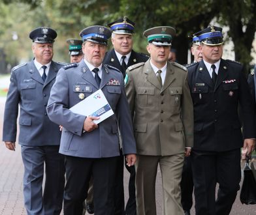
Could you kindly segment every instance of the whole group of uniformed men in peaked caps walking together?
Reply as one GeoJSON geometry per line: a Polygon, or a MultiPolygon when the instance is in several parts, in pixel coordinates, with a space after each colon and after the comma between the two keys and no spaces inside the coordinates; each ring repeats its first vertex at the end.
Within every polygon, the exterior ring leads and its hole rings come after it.
{"type": "Polygon", "coordinates": [[[89,214],[155,215],[158,165],[163,214],[190,214],[193,186],[196,214],[229,214],[240,148],[242,156],[255,149],[255,107],[241,64],[221,58],[222,29],[193,35],[195,63],[185,68],[168,61],[173,27],[144,31],[150,58],[133,51],[135,23],[127,17],[108,27],[68,39],[67,65],[52,61],[56,31],[39,27],[29,34],[34,59],[12,69],[3,141],[15,150],[20,106],[27,214],[60,214],[64,202],[64,214],[79,215],[86,199],[89,214]],[[70,110],[99,89],[114,115],[97,124],[99,116],[70,110]],[[131,173],[126,207],[124,161],[131,173]]]}

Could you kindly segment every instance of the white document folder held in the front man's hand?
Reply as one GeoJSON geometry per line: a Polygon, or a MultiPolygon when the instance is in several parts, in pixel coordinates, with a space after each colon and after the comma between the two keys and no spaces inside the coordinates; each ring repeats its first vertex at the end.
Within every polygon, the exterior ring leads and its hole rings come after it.
{"type": "Polygon", "coordinates": [[[101,89],[93,94],[90,94],[78,104],[72,106],[70,110],[73,113],[85,115],[86,117],[100,117],[100,119],[94,120],[96,124],[99,124],[99,122],[104,121],[104,119],[107,119],[114,114],[101,89]]]}

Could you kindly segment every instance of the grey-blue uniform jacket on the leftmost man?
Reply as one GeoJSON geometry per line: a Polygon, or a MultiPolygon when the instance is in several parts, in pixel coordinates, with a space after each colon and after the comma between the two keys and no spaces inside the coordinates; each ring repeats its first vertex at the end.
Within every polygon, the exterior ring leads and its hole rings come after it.
{"type": "Polygon", "coordinates": [[[63,65],[52,61],[45,82],[33,61],[12,69],[5,103],[3,141],[16,141],[20,105],[19,143],[26,146],[59,145],[59,125],[50,121],[46,106],[57,72],[63,65]]]}

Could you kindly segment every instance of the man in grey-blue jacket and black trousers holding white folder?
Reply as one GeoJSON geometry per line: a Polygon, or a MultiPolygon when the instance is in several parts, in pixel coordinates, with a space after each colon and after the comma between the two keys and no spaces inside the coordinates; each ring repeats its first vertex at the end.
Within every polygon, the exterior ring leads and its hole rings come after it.
{"type": "Polygon", "coordinates": [[[99,25],[80,32],[84,59],[59,70],[48,102],[50,119],[63,125],[59,152],[65,154],[64,214],[82,214],[82,202],[86,199],[91,175],[95,214],[114,214],[114,180],[120,157],[118,128],[127,164],[134,165],[136,161],[136,143],[123,76],[116,68],[103,64],[110,35],[108,28],[99,25]],[[94,120],[99,117],[86,117],[69,109],[99,89],[114,115],[96,124],[94,120]]]}

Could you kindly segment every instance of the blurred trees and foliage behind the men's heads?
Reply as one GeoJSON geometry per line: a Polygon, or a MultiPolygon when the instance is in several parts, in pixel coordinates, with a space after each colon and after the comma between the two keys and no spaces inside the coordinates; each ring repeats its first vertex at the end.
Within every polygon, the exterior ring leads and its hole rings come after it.
{"type": "Polygon", "coordinates": [[[147,53],[142,36],[146,29],[170,25],[177,31],[172,47],[178,63],[191,63],[188,35],[214,24],[223,27],[224,59],[240,61],[246,74],[256,63],[255,0],[0,0],[0,74],[31,61],[28,35],[36,27],[57,31],[54,60],[69,62],[67,38],[79,38],[85,27],[106,25],[123,16],[136,23],[135,51],[147,53]]]}

